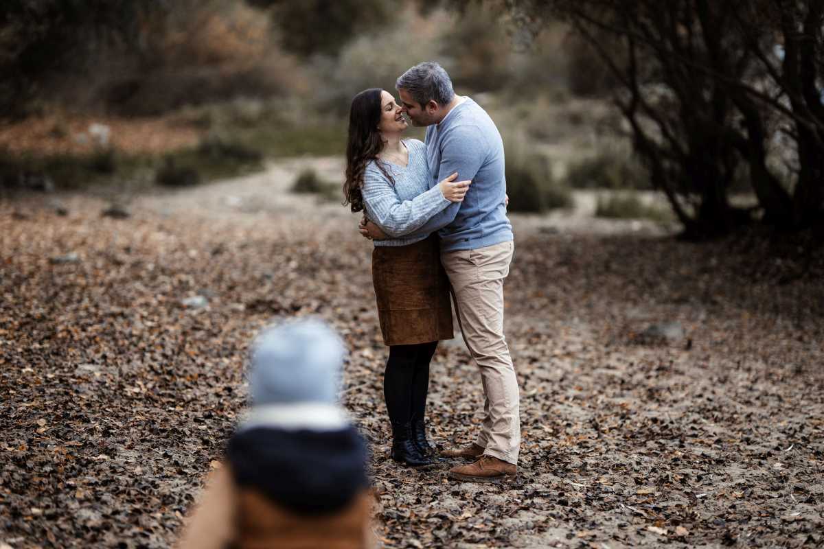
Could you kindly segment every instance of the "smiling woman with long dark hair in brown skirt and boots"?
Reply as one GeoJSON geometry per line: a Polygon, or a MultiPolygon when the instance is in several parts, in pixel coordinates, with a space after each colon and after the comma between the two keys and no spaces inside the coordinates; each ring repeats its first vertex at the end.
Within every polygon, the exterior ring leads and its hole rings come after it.
{"type": "Polygon", "coordinates": [[[376,240],[372,283],[389,358],[383,379],[392,424],[391,457],[413,468],[433,465],[424,413],[429,361],[441,339],[452,339],[449,281],[438,235],[426,223],[461,202],[470,181],[452,174],[429,188],[426,146],[401,140],[408,127],[391,94],[372,88],[355,95],[349,111],[344,204],[366,210],[390,238],[376,240]]]}

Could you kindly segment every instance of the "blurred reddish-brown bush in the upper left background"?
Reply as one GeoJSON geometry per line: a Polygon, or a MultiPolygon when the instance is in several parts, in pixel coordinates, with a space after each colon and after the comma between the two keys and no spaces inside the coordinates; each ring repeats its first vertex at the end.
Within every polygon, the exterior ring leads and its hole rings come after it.
{"type": "MultiPolygon", "coordinates": [[[[99,85],[103,100],[127,114],[159,114],[237,96],[306,91],[297,59],[284,54],[255,9],[231,0],[179,0],[147,30],[128,72],[99,85]]],[[[108,59],[104,59],[109,62],[108,59]]],[[[122,63],[115,55],[110,63],[122,63]]]]}

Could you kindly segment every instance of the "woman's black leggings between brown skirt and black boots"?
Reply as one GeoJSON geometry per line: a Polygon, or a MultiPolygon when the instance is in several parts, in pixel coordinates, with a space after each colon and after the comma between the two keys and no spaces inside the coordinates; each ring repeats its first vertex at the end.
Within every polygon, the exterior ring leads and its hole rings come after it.
{"type": "Polygon", "coordinates": [[[423,419],[429,390],[429,361],[438,342],[392,345],[383,375],[383,396],[392,423],[423,419]]]}

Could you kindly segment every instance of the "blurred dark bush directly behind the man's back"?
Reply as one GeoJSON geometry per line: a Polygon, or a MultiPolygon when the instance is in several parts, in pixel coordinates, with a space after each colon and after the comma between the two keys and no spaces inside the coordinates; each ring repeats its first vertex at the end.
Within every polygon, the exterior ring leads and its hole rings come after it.
{"type": "Polygon", "coordinates": [[[569,189],[556,184],[545,158],[507,161],[510,212],[545,212],[572,206],[569,189]]]}

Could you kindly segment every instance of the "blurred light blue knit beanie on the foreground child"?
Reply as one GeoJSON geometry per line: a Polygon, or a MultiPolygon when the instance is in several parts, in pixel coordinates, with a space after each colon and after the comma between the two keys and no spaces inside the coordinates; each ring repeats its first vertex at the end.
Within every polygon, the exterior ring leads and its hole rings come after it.
{"type": "Polygon", "coordinates": [[[251,351],[252,406],[336,404],[344,342],[320,319],[297,319],[266,328],[251,351]]]}

